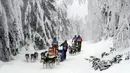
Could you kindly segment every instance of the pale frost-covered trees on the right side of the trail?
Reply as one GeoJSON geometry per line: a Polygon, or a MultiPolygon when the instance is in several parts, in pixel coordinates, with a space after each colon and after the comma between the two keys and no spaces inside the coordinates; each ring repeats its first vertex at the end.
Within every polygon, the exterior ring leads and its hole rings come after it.
{"type": "Polygon", "coordinates": [[[130,0],[88,0],[87,29],[90,29],[89,34],[92,40],[99,41],[101,38],[113,37],[115,48],[128,48],[130,42],[129,3],[130,0]]]}

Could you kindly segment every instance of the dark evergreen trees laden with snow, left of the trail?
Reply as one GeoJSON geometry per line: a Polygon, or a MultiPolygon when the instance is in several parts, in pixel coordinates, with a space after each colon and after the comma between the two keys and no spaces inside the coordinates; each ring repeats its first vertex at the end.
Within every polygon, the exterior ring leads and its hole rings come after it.
{"type": "Polygon", "coordinates": [[[20,50],[31,42],[45,49],[53,37],[72,36],[66,9],[65,4],[59,7],[55,0],[1,0],[0,60],[9,61],[12,49],[20,50]]]}

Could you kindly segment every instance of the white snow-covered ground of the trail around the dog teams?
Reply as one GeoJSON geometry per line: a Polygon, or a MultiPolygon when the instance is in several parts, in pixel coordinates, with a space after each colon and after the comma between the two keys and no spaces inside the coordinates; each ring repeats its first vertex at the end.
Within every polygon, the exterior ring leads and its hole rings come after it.
{"type": "MultiPolygon", "coordinates": [[[[108,52],[112,45],[112,39],[99,43],[83,42],[82,51],[79,54],[75,56],[68,54],[67,60],[56,65],[53,69],[43,68],[40,58],[36,62],[27,63],[24,58],[26,52],[22,51],[16,60],[8,63],[0,62],[0,73],[129,73],[129,60],[122,61],[120,64],[115,64],[101,72],[92,69],[91,64],[84,59],[91,55],[100,57],[100,54],[104,51],[108,52]]],[[[31,52],[33,50],[30,50],[31,52]]]]}

